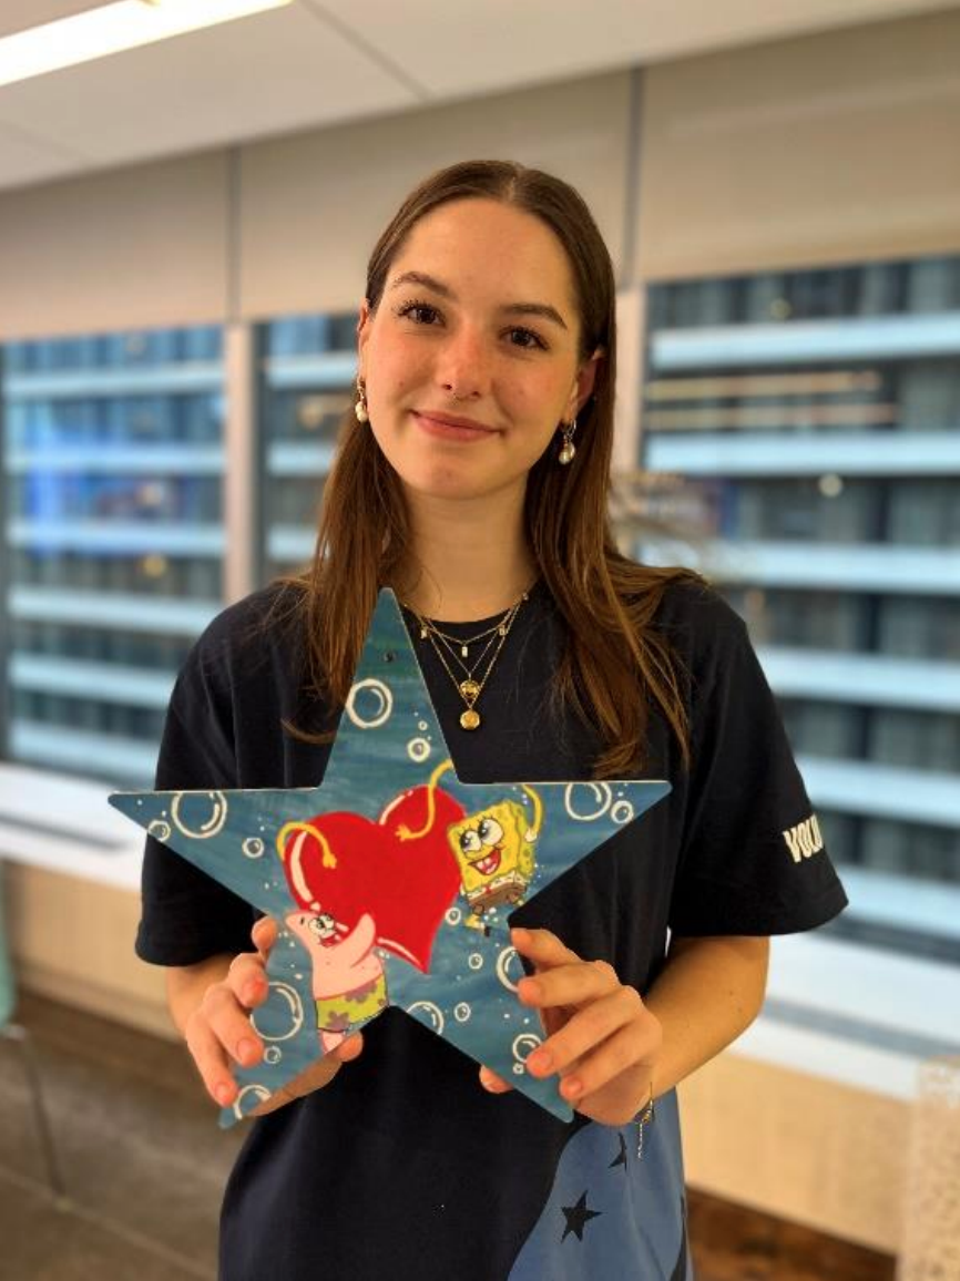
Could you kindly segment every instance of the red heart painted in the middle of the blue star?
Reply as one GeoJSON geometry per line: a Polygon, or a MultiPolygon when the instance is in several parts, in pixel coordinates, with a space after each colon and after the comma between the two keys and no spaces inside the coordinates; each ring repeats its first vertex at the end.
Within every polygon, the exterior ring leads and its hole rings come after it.
{"type": "Polygon", "coordinates": [[[449,793],[429,793],[427,787],[405,792],[378,822],[338,811],[290,824],[282,845],[287,884],[300,907],[328,912],[351,930],[369,912],[377,945],[424,972],[460,888],[446,831],[465,816],[449,793]]]}

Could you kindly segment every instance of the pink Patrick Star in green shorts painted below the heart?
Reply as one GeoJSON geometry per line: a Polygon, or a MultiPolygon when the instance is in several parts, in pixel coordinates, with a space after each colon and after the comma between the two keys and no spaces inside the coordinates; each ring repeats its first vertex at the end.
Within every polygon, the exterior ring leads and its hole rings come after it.
{"type": "Polygon", "coordinates": [[[287,926],[310,953],[317,1030],[324,1053],[351,1026],[387,1006],[387,980],[374,952],[377,927],[365,912],[352,930],[326,912],[291,912],[287,926]]]}

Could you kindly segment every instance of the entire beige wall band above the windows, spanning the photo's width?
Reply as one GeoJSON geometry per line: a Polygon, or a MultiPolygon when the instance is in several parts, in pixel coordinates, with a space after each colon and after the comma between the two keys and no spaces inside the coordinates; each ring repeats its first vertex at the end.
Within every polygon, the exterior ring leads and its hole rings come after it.
{"type": "Polygon", "coordinates": [[[959,47],[950,10],[5,192],[0,339],[352,309],[467,155],[573,182],[625,284],[956,252],[959,47]]]}

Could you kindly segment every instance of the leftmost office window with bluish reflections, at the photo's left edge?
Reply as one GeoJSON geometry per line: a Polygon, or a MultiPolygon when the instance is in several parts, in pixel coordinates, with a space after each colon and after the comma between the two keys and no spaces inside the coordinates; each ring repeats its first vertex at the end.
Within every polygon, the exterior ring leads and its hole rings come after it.
{"type": "Polygon", "coordinates": [[[4,348],[10,758],[151,781],[222,596],[220,347],[190,328],[4,348]]]}

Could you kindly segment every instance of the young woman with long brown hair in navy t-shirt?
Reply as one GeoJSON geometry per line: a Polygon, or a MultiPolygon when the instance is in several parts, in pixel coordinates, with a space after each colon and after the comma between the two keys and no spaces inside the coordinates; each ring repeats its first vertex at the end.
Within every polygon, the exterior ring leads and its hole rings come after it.
{"type": "MultiPolygon", "coordinates": [[[[673,790],[513,917],[518,999],[547,1032],[527,1066],[574,1122],[388,1009],[263,1107],[227,1189],[222,1277],[686,1277],[674,1086],[756,1016],[766,936],[829,920],[842,888],[823,851],[791,844],[815,820],[740,619],[610,535],[614,283],[581,197],[514,164],[428,178],[374,249],[358,332],[313,567],[201,638],[158,787],[319,781],[387,585],[460,778],[673,790]],[[464,692],[455,655],[486,635],[464,692]]],[[[138,951],[170,967],[222,1104],[231,1066],[263,1053],[250,1011],[276,926],[251,948],[251,925],[150,843],[138,951]]]]}

